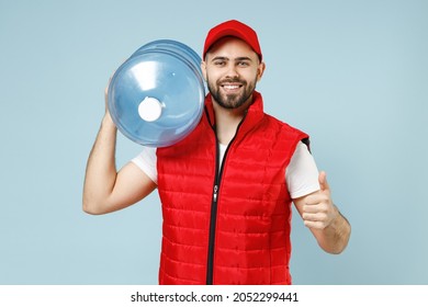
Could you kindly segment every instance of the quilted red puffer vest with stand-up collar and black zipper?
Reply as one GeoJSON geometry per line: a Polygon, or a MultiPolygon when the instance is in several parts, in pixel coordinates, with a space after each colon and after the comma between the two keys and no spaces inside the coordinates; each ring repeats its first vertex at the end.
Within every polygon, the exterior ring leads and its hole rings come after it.
{"type": "Polygon", "coordinates": [[[162,203],[159,284],[291,284],[291,197],[285,168],[308,136],[255,101],[223,167],[211,95],[198,127],[157,149],[162,203]]]}

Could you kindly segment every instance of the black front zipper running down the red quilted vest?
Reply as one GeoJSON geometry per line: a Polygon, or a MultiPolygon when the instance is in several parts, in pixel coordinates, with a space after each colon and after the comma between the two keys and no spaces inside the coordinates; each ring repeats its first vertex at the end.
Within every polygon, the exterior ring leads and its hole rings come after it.
{"type": "MultiPolygon", "coordinates": [[[[214,245],[215,245],[215,227],[217,224],[217,203],[218,203],[218,192],[219,192],[219,185],[222,182],[222,175],[223,175],[223,167],[226,161],[227,154],[229,151],[229,148],[232,144],[234,143],[236,135],[238,134],[240,125],[244,123],[244,120],[246,117],[247,113],[244,115],[243,120],[240,121],[238,127],[236,128],[235,136],[230,140],[230,143],[227,145],[226,151],[223,156],[223,162],[221,164],[219,161],[219,144],[217,138],[217,133],[215,129],[215,126],[211,125],[214,135],[215,135],[215,143],[216,143],[216,158],[215,158],[215,179],[214,179],[214,187],[213,187],[213,198],[211,202],[211,219],[210,219],[210,236],[209,236],[209,259],[207,259],[207,265],[206,265],[206,284],[212,285],[213,284],[213,271],[214,271],[214,245]],[[219,168],[219,172],[218,172],[219,168]]],[[[210,116],[207,116],[210,118],[210,116]]]]}

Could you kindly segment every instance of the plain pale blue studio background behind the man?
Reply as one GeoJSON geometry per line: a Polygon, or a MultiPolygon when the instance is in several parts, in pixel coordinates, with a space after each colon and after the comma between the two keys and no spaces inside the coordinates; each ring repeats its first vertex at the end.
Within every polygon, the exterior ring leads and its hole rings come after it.
{"type": "MultiPolygon", "coordinates": [[[[295,284],[427,284],[428,1],[0,1],[0,284],[156,284],[157,194],[81,211],[110,75],[159,38],[259,34],[266,109],[306,130],[352,224],[320,251],[296,216],[295,284]]],[[[139,151],[120,137],[117,164],[139,151]]]]}

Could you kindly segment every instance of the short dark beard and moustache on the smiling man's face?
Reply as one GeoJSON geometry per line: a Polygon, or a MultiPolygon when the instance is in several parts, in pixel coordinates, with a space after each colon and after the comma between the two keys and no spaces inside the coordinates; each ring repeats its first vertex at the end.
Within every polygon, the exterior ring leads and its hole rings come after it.
{"type": "Polygon", "coordinates": [[[213,99],[218,103],[218,105],[225,109],[238,109],[239,106],[244,105],[251,98],[252,92],[256,89],[256,80],[254,82],[247,83],[247,81],[240,80],[239,78],[225,79],[215,83],[210,82],[210,79],[207,79],[206,83],[213,99]],[[221,83],[225,82],[238,82],[241,84],[244,91],[238,94],[221,93],[221,83]]]}

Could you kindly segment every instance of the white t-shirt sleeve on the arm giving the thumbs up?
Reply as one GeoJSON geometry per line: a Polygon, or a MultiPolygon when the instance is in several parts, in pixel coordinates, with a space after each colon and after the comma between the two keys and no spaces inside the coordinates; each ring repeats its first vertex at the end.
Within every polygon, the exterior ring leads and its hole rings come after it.
{"type": "Polygon", "coordinates": [[[292,198],[319,190],[318,169],[307,146],[299,143],[285,171],[285,181],[292,198]]]}

